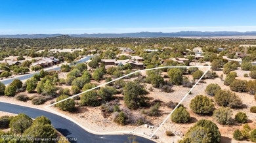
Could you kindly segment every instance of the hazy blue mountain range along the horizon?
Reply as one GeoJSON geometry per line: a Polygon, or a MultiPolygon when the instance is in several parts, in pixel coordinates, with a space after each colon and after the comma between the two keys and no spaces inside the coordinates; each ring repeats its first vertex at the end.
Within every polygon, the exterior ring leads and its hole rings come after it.
{"type": "MultiPolygon", "coordinates": [[[[33,35],[0,35],[0,38],[19,38],[35,39],[47,37],[60,37],[62,34],[33,34],[33,35]]],[[[180,31],[173,33],[162,32],[139,32],[139,33],[95,33],[95,34],[70,34],[70,37],[224,37],[224,36],[256,36],[256,31],[236,32],[236,31],[218,31],[218,32],[201,32],[201,31],[180,31]]]]}

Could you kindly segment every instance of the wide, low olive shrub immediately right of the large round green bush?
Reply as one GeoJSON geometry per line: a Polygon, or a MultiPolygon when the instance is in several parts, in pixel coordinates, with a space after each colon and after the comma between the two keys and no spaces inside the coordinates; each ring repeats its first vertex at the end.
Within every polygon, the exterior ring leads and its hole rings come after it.
{"type": "Polygon", "coordinates": [[[228,90],[217,91],[214,99],[220,106],[229,106],[230,108],[242,107],[241,99],[235,93],[228,90]]]}

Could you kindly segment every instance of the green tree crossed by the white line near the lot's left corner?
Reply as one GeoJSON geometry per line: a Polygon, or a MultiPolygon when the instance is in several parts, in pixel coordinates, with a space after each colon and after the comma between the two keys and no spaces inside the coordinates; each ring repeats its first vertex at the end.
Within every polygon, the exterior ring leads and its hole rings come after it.
{"type": "MultiPolygon", "coordinates": [[[[61,95],[57,97],[56,102],[62,101],[63,99],[66,99],[68,97],[68,95],[61,95]]],[[[66,101],[62,101],[61,103],[57,103],[56,107],[64,111],[73,111],[75,109],[75,101],[73,99],[68,99],[66,101]]]]}

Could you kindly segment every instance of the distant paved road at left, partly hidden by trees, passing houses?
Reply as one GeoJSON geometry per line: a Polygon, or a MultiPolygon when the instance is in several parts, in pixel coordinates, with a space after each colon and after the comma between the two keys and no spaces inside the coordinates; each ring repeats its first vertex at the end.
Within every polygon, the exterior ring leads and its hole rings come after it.
{"type": "MultiPolygon", "coordinates": [[[[90,59],[90,57],[93,57],[93,56],[87,56],[87,57],[85,57],[83,59],[79,59],[77,61],[77,63],[82,63],[82,62],[88,61],[90,59]]],[[[60,70],[60,67],[54,67],[54,68],[51,68],[51,69],[47,69],[45,71],[58,71],[58,70],[60,70]]],[[[15,78],[10,78],[8,80],[3,80],[3,81],[0,80],[0,82],[2,82],[3,84],[7,85],[7,84],[11,84],[11,82],[13,80],[15,80],[15,79],[26,80],[28,78],[31,78],[34,74],[39,74],[39,72],[33,72],[31,74],[24,74],[23,76],[18,76],[18,77],[15,77],[15,78]]]]}

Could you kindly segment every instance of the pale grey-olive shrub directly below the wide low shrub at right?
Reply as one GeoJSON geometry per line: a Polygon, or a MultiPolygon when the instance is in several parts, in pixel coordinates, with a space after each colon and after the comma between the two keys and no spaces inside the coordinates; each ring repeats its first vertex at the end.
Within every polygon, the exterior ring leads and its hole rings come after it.
{"type": "Polygon", "coordinates": [[[228,107],[221,107],[213,112],[213,117],[218,123],[222,125],[231,125],[232,121],[232,110],[228,107]]]}

